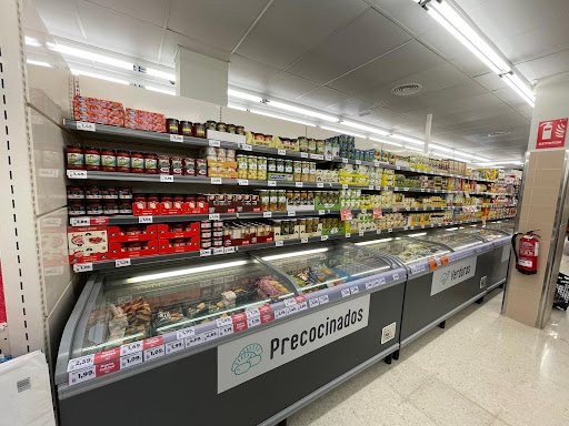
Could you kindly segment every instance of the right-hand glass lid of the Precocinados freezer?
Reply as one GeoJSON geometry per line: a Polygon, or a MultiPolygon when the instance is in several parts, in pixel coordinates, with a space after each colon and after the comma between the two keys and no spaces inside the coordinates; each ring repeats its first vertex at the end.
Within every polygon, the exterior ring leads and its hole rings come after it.
{"type": "Polygon", "coordinates": [[[305,294],[391,270],[379,254],[353,244],[296,248],[262,260],[288,274],[305,294]]]}

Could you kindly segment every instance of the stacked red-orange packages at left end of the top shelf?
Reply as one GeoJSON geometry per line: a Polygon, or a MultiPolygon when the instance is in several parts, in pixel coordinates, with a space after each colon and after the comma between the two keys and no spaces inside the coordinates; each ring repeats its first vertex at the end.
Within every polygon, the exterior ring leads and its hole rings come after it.
{"type": "Polygon", "coordinates": [[[73,114],[77,121],[97,124],[123,125],[124,110],[122,103],[103,99],[73,97],[73,114]]]}

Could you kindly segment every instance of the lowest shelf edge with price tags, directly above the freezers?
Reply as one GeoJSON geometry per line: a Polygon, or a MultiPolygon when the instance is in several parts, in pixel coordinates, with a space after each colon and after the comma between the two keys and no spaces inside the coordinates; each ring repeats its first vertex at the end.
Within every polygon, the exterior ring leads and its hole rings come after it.
{"type": "MultiPolygon", "coordinates": [[[[487,221],[501,221],[505,219],[510,219],[513,216],[503,216],[503,217],[495,217],[488,219],[487,221]]],[[[160,264],[170,261],[180,261],[187,258],[194,257],[203,257],[211,255],[227,255],[232,253],[242,253],[258,250],[266,250],[271,247],[280,247],[286,245],[298,245],[306,243],[313,243],[318,241],[328,241],[328,240],[345,240],[345,239],[360,239],[360,237],[369,237],[372,235],[383,235],[383,234],[392,234],[397,232],[406,232],[406,231],[415,231],[415,230],[426,230],[431,227],[446,227],[446,226],[457,226],[467,223],[478,223],[482,222],[482,220],[469,220],[469,221],[457,221],[450,223],[439,223],[439,224],[429,224],[429,225],[416,225],[416,226],[403,226],[403,227],[395,227],[389,230],[373,230],[373,231],[360,231],[353,233],[346,234],[335,234],[335,235],[319,235],[303,239],[293,239],[293,240],[281,240],[271,243],[262,243],[262,244],[251,244],[251,245],[242,245],[238,247],[220,247],[220,248],[208,248],[200,250],[194,252],[187,253],[174,253],[174,254],[159,254],[154,256],[144,256],[144,257],[132,257],[132,258],[120,258],[120,260],[111,260],[111,261],[102,261],[94,263],[77,263],[73,265],[74,272],[89,272],[89,271],[103,271],[103,270],[112,270],[116,267],[124,267],[124,266],[134,266],[134,265],[152,265],[160,264]]]]}

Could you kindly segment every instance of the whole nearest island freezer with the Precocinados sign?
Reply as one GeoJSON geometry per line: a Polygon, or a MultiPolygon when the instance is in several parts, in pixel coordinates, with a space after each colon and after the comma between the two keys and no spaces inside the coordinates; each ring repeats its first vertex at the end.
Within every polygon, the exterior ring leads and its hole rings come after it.
{"type": "Polygon", "coordinates": [[[174,424],[188,402],[196,424],[273,424],[399,349],[391,258],[333,241],[221,257],[90,275],[58,355],[62,426],[98,425],[93,403],[174,424]],[[131,409],[132,389],[164,390],[161,409],[131,409]]]}

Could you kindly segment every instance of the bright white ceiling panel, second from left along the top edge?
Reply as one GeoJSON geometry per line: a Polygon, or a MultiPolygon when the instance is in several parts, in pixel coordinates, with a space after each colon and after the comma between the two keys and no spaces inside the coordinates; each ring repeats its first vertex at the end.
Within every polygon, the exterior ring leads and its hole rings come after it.
{"type": "Polygon", "coordinates": [[[77,0],[77,7],[90,44],[158,62],[160,27],[83,0],[77,0]]]}

